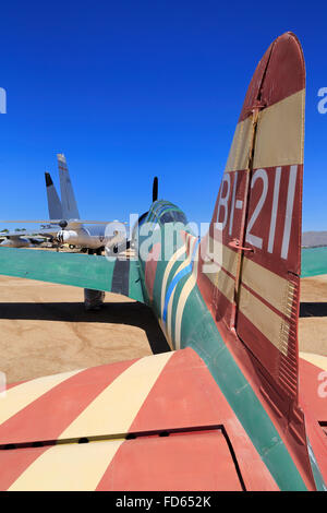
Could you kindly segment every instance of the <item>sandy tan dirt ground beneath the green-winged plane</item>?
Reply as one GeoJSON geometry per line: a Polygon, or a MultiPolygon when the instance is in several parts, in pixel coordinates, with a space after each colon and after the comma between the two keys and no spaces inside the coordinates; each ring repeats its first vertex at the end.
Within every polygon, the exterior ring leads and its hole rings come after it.
{"type": "MultiPolygon", "coordinates": [[[[327,354],[327,275],[302,279],[300,349],[327,354]]],[[[0,370],[7,382],[169,350],[152,311],[106,294],[85,312],[83,289],[0,276],[0,370]]]]}

